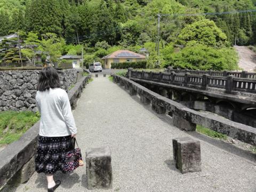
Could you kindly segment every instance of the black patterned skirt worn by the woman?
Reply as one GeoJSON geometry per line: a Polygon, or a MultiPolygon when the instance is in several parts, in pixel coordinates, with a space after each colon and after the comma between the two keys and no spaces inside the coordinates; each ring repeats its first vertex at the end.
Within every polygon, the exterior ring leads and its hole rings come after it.
{"type": "Polygon", "coordinates": [[[37,173],[54,174],[56,171],[63,171],[65,155],[74,149],[71,136],[66,137],[38,137],[36,151],[37,173]]]}

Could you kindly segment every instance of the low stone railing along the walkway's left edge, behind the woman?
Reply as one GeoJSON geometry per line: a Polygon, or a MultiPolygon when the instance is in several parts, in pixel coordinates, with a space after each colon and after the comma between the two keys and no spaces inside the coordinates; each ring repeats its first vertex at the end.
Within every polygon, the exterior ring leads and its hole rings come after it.
{"type": "MultiPolygon", "coordinates": [[[[77,97],[80,97],[83,88],[85,87],[90,76],[82,77],[75,84],[73,89],[68,92],[68,98],[70,101],[70,105],[72,107],[76,106],[77,97]]],[[[4,185],[11,179],[13,176],[20,172],[22,167],[28,169],[29,173],[23,171],[25,173],[20,174],[33,174],[35,171],[34,164],[31,163],[31,168],[27,168],[25,165],[29,164],[31,161],[34,161],[33,157],[35,155],[35,150],[37,147],[37,137],[39,132],[40,122],[38,121],[34,126],[32,126],[26,133],[22,135],[22,137],[9,146],[4,148],[0,152],[0,189],[4,187],[4,185]],[[31,170],[34,170],[31,173],[31,170]]],[[[29,165],[28,165],[29,166],[29,165]]],[[[18,179],[20,180],[21,175],[18,175],[18,179]]]]}

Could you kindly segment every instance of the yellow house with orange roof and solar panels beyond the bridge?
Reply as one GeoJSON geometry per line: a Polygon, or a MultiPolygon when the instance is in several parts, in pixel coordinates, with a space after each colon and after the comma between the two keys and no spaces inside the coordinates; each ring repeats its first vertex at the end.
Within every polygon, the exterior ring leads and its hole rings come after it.
{"type": "Polygon", "coordinates": [[[146,56],[129,50],[118,50],[101,59],[103,60],[105,68],[111,69],[111,63],[138,62],[145,60],[146,56]]]}

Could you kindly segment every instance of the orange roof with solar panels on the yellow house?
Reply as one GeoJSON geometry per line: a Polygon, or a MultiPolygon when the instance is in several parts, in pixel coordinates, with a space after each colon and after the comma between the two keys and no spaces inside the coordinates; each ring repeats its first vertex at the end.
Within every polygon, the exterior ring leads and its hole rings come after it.
{"type": "Polygon", "coordinates": [[[121,58],[130,58],[130,59],[145,59],[146,57],[142,54],[135,53],[129,50],[118,50],[114,53],[111,53],[102,59],[121,59],[121,58]]]}

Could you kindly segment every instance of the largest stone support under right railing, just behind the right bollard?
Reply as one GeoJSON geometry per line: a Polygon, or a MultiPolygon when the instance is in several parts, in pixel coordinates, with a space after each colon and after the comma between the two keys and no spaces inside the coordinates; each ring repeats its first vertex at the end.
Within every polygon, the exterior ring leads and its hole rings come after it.
{"type": "Polygon", "coordinates": [[[188,122],[181,116],[173,114],[172,123],[182,131],[196,131],[196,124],[188,122]]]}

